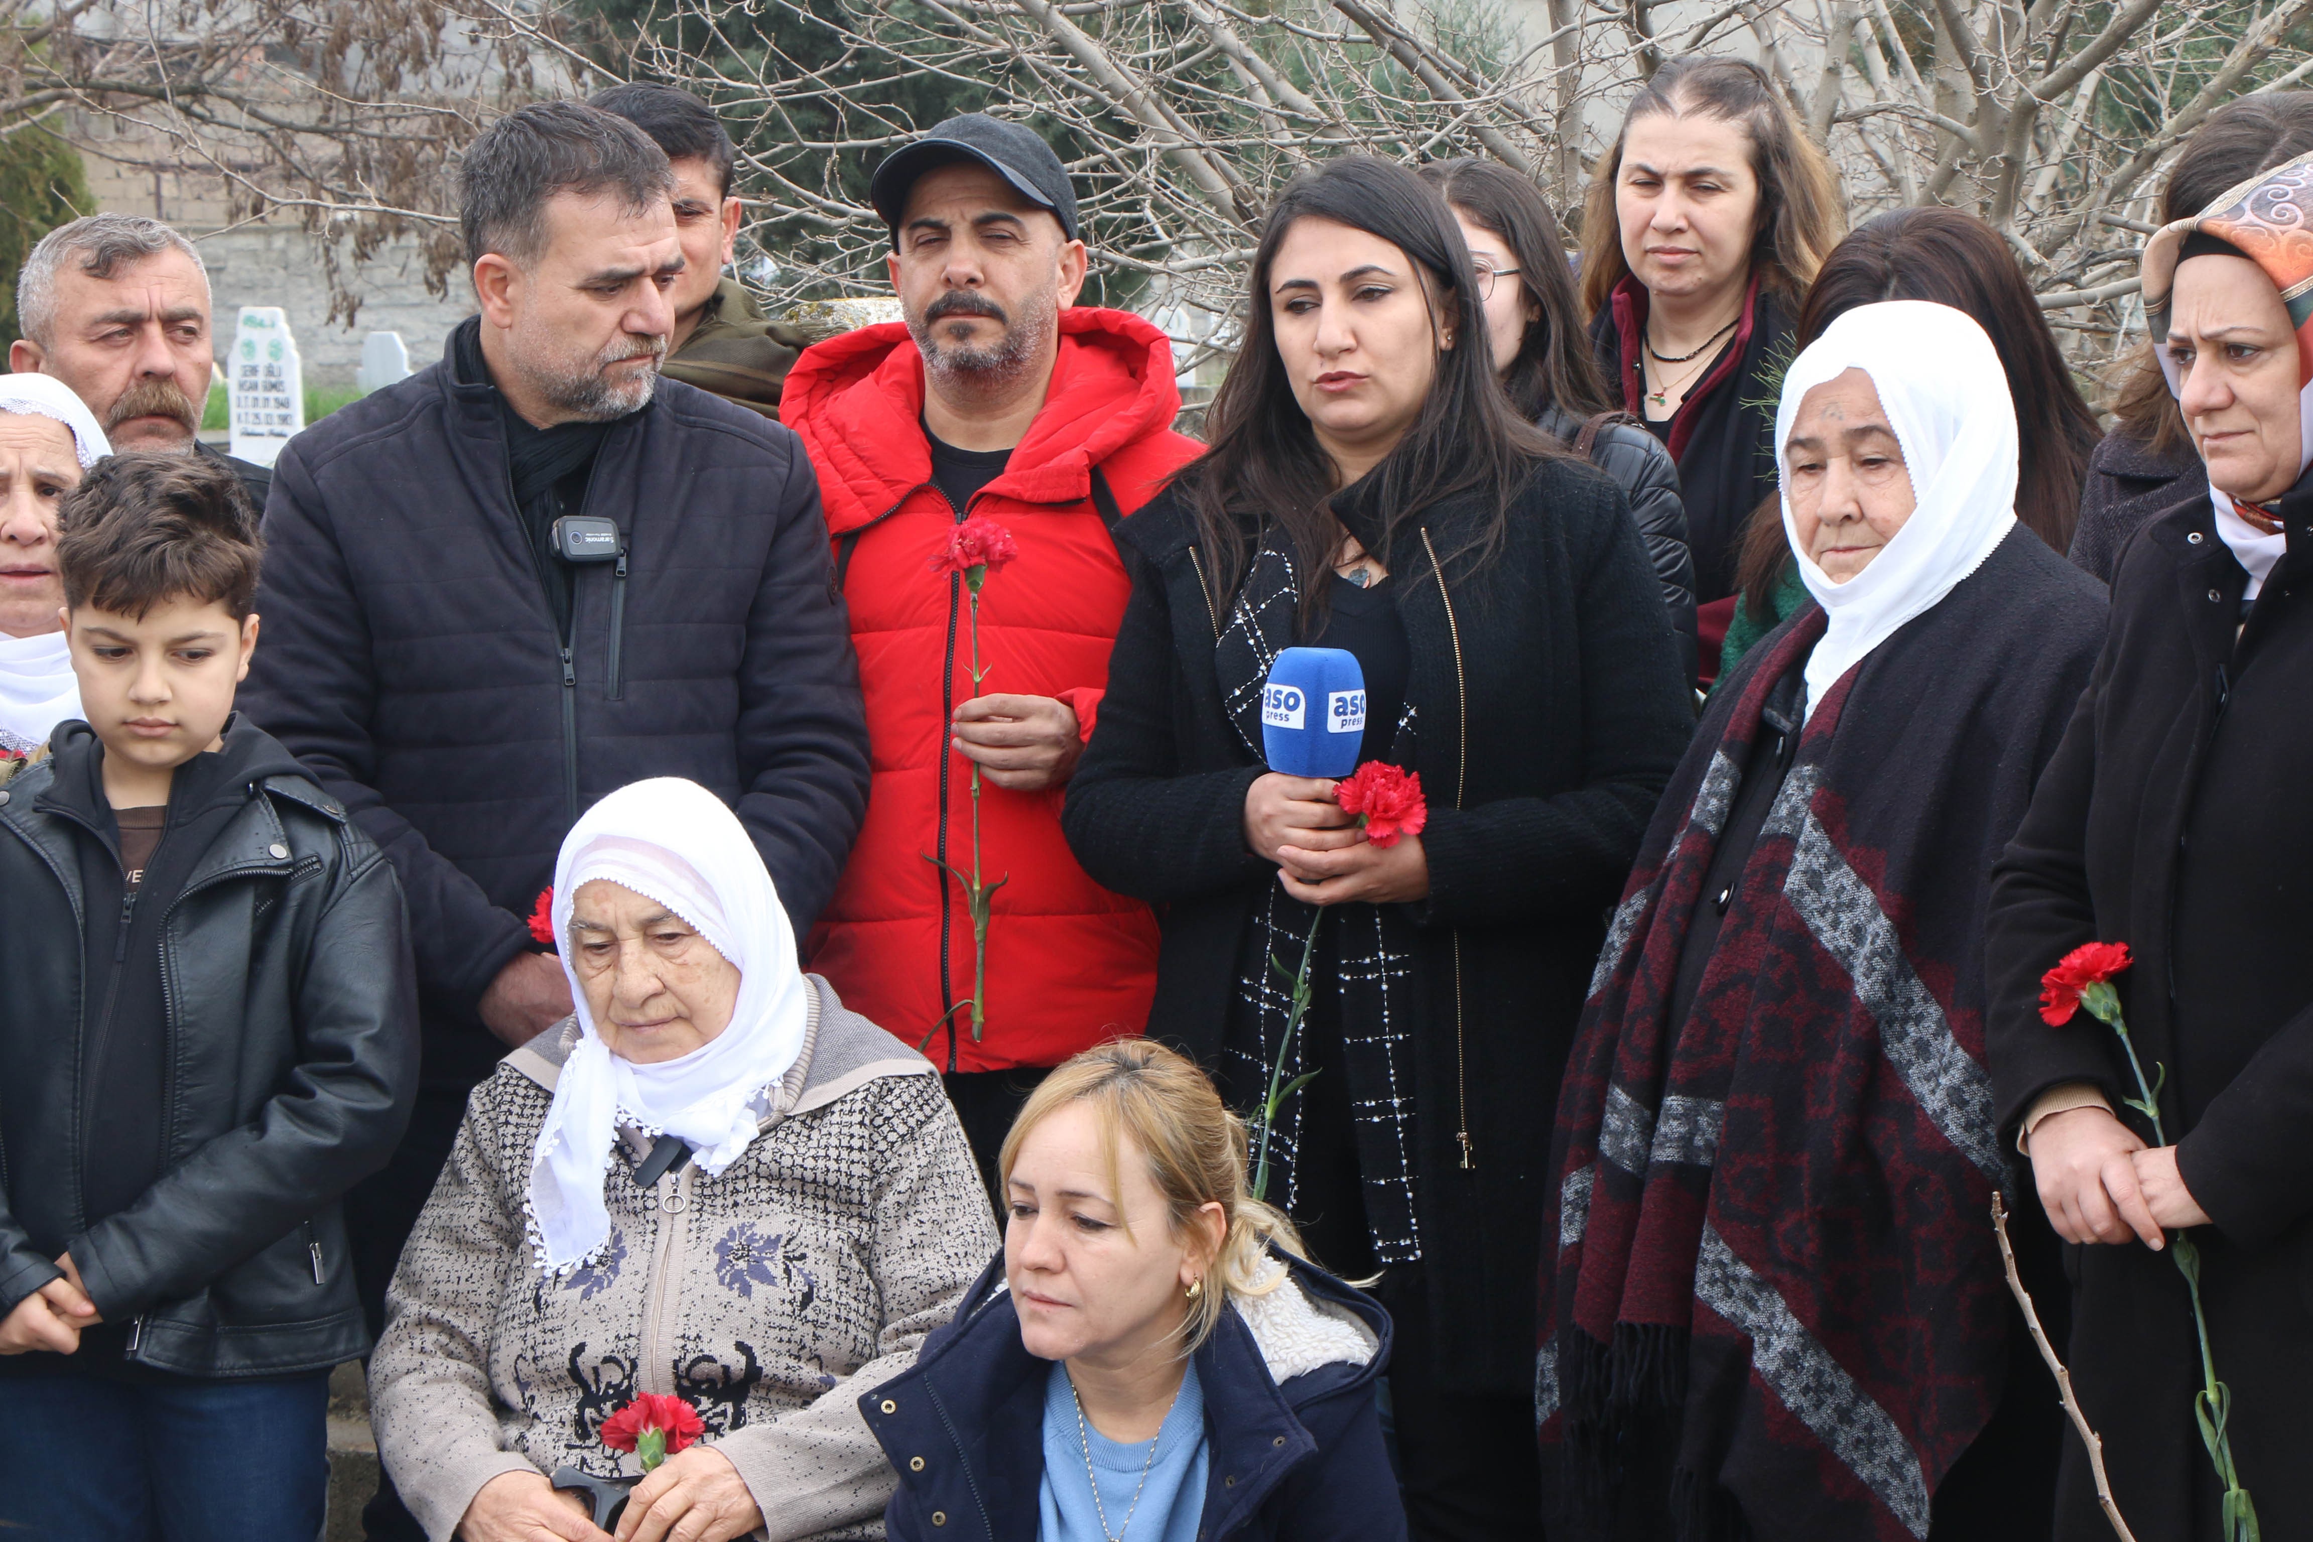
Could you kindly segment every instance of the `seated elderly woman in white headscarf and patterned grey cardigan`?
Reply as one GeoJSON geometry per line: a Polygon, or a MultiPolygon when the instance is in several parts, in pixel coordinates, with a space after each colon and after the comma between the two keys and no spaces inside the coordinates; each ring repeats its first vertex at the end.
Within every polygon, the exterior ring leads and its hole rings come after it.
{"type": "Polygon", "coordinates": [[[858,1396],[997,1241],[939,1077],[796,969],[692,781],[594,805],[550,915],[578,1010],[474,1089],[402,1253],[370,1359],[386,1470],[435,1542],[604,1542],[553,1475],[641,1477],[620,1415],[678,1399],[622,1542],[879,1535],[858,1396]]]}

